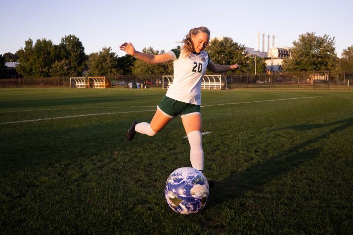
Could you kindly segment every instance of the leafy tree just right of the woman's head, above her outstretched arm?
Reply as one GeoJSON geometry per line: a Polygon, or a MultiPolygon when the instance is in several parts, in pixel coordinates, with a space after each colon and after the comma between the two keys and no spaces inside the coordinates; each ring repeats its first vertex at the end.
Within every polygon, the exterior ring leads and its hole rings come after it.
{"type": "Polygon", "coordinates": [[[206,47],[211,60],[215,64],[220,65],[232,65],[238,64],[240,70],[248,71],[248,58],[245,46],[234,42],[232,39],[223,38],[222,40],[213,39],[210,44],[206,47]]]}

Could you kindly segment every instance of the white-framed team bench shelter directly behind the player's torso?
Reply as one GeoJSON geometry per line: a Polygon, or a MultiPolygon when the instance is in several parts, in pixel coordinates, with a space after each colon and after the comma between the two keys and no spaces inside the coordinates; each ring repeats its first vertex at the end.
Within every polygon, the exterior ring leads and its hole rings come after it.
{"type": "MultiPolygon", "coordinates": [[[[174,76],[165,75],[162,77],[162,88],[168,88],[173,84],[174,76]]],[[[221,75],[204,75],[202,78],[201,89],[227,89],[227,82],[221,75]]]]}

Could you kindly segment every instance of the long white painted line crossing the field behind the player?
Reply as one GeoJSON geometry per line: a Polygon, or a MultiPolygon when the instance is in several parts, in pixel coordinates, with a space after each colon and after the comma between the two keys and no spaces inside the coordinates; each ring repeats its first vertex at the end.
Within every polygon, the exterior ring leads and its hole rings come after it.
{"type": "MultiPolygon", "coordinates": [[[[203,105],[201,107],[211,107],[211,106],[220,106],[220,105],[250,104],[250,103],[260,103],[260,102],[281,101],[281,100],[311,99],[311,98],[318,98],[318,97],[321,97],[321,96],[298,97],[298,98],[287,98],[287,99],[273,99],[273,100],[257,100],[257,101],[238,102],[238,103],[224,103],[224,104],[214,104],[214,105],[203,105]]],[[[79,118],[79,117],[88,117],[88,116],[97,116],[97,115],[129,114],[129,113],[141,113],[141,112],[152,112],[152,111],[156,111],[156,110],[154,109],[154,110],[140,110],[140,111],[113,112],[113,113],[100,113],[100,114],[83,114],[83,115],[55,117],[55,118],[39,118],[39,119],[29,119],[29,120],[20,120],[20,121],[8,121],[8,122],[0,122],[0,124],[4,125],[4,124],[13,124],[13,123],[21,123],[21,122],[33,122],[33,121],[63,119],[63,118],[79,118]]]]}

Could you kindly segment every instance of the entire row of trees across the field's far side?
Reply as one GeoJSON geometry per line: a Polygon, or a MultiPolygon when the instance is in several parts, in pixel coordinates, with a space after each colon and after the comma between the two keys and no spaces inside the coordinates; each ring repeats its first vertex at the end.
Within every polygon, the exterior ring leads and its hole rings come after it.
{"type": "MultiPolygon", "coordinates": [[[[145,47],[143,52],[162,54],[165,50],[145,47]]],[[[245,51],[245,46],[229,38],[213,39],[206,51],[216,64],[240,65],[236,73],[265,72],[265,58],[256,58],[245,51]]],[[[118,76],[118,75],[161,75],[173,74],[173,62],[150,65],[136,60],[130,55],[118,57],[111,47],[103,47],[99,52],[89,55],[78,37],[62,37],[58,45],[51,40],[32,39],[25,41],[25,47],[14,54],[8,52],[0,55],[0,70],[5,69],[5,62],[18,61],[16,70],[23,78],[42,77],[80,77],[118,76]]],[[[284,71],[323,71],[353,70],[353,45],[349,46],[338,58],[335,52],[335,38],[328,35],[316,36],[305,33],[293,41],[291,57],[285,58],[282,64],[284,71]]],[[[211,73],[208,71],[208,73],[211,73]]]]}

